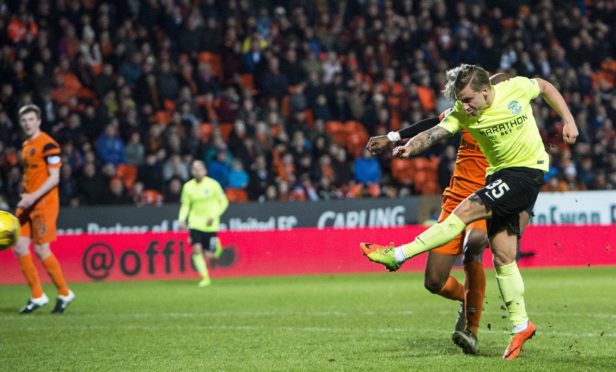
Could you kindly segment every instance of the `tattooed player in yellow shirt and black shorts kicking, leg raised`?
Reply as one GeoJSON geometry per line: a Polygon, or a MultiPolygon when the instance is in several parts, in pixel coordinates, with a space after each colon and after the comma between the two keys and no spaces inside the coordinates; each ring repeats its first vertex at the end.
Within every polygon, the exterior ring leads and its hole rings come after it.
{"type": "Polygon", "coordinates": [[[496,279],[512,323],[512,337],[503,359],[515,359],[536,327],[524,303],[524,281],[515,262],[521,234],[520,214],[529,215],[548,171],[544,149],[530,101],[542,95],[563,119],[563,139],[578,136],[573,115],[549,82],[516,77],[491,85],[488,73],[476,65],[447,71],[445,95],[456,103],[439,125],[396,147],[394,156],[410,157],[461,129],[468,130],[488,160],[486,186],[464,199],[453,212],[409,244],[399,247],[368,244],[364,254],[391,271],[406,260],[454,239],[474,221],[488,218],[488,237],[494,255],[496,279]]]}

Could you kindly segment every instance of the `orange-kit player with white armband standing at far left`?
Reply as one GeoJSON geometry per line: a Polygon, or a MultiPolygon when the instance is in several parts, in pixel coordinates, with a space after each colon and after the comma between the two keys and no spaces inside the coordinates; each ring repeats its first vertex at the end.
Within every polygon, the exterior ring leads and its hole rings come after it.
{"type": "Polygon", "coordinates": [[[31,313],[49,302],[30,255],[30,243],[34,243],[34,252],[58,290],[52,312],[63,313],[75,299],[75,294],[66,285],[60,263],[50,249],[50,243],[56,240],[56,221],[60,210],[60,146],[41,131],[41,110],[37,106],[26,105],[20,108],[19,124],[26,140],[21,148],[24,167],[23,194],[15,213],[21,225],[21,232],[13,251],[32,292],[31,298],[20,313],[31,313]]]}

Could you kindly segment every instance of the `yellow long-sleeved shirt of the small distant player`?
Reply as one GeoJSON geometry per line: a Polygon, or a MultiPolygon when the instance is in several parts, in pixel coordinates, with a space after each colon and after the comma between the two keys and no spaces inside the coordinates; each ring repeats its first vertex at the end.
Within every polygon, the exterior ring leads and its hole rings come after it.
{"type": "Polygon", "coordinates": [[[190,229],[215,232],[220,225],[220,216],[229,206],[229,200],[220,184],[204,177],[201,182],[191,179],[182,187],[180,221],[187,221],[190,229]],[[207,221],[212,223],[208,226],[207,221]]]}

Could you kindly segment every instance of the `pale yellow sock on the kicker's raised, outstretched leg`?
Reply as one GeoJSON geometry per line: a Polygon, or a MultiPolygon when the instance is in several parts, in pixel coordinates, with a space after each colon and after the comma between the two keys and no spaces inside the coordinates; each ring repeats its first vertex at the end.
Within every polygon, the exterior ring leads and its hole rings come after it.
{"type": "Polygon", "coordinates": [[[419,234],[413,242],[400,248],[406,258],[411,258],[451,241],[465,228],[466,224],[452,213],[444,221],[432,225],[428,230],[419,234]]]}

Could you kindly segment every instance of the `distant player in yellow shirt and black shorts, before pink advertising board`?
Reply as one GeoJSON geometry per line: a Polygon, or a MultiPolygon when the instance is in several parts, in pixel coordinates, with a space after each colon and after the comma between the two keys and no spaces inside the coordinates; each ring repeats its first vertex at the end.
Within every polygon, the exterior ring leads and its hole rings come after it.
{"type": "Polygon", "coordinates": [[[189,231],[192,261],[201,275],[199,287],[211,284],[206,258],[219,257],[222,253],[220,239],[216,236],[220,216],[229,206],[229,200],[220,184],[207,177],[207,169],[201,160],[192,162],[193,178],[182,187],[180,228],[189,231]]]}

